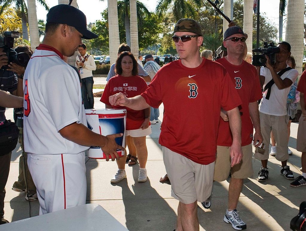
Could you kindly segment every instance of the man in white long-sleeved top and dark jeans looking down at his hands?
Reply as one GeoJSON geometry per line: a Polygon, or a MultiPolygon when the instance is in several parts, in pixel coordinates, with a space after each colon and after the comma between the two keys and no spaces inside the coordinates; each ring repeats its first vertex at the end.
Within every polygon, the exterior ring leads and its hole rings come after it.
{"type": "Polygon", "coordinates": [[[79,68],[80,76],[82,79],[82,99],[85,109],[94,108],[94,95],[92,88],[94,85],[94,79],[92,71],[96,69],[94,58],[86,53],[86,45],[82,43],[78,47],[80,55],[76,56],[76,67],[79,68]]]}

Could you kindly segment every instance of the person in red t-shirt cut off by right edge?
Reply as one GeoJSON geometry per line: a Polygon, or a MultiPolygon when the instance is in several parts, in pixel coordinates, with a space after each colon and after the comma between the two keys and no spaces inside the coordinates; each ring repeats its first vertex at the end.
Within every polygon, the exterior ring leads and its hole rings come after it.
{"type": "Polygon", "coordinates": [[[303,71],[299,84],[297,85],[297,91],[300,92],[300,105],[302,109],[302,115],[299,120],[299,127],[297,129],[297,150],[302,152],[302,175],[298,176],[295,181],[290,183],[290,186],[299,187],[306,185],[306,70],[303,71]]]}

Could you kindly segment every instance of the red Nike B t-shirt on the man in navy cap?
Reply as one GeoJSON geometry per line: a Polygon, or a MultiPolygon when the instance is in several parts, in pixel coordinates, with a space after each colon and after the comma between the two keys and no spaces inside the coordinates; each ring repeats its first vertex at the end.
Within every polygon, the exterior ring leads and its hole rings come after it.
{"type": "MultiPolygon", "coordinates": [[[[249,103],[253,103],[263,97],[256,68],[250,63],[242,61],[241,65],[233,65],[226,58],[216,60],[230,75],[235,88],[240,96],[242,104],[239,106],[241,115],[241,146],[252,143],[253,123],[250,118],[249,103]]],[[[230,123],[220,117],[218,141],[220,146],[232,146],[233,135],[230,123]]]]}

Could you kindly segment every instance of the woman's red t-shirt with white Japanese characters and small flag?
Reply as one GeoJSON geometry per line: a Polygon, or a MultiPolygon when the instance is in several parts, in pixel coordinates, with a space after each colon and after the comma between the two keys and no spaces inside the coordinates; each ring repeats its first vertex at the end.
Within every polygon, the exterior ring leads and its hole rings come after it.
{"type": "MultiPolygon", "coordinates": [[[[123,77],[121,75],[115,75],[107,82],[103,95],[100,99],[101,102],[110,105],[108,100],[109,96],[122,92],[126,97],[131,98],[139,96],[148,88],[146,81],[138,75],[123,77]]],[[[139,129],[144,122],[144,110],[133,110],[125,106],[114,106],[113,108],[125,108],[126,109],[126,130],[139,129]]]]}

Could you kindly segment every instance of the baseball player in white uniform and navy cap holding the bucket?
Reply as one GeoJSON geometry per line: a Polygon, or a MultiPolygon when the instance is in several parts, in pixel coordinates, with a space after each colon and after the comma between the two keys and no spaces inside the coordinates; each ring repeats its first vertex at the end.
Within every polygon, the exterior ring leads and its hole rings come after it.
{"type": "Polygon", "coordinates": [[[119,159],[115,142],[122,134],[102,136],[87,128],[80,80],[64,62],[81,38],[97,35],[86,29],[86,17],[70,5],[47,14],[45,37],[24,74],[24,149],[37,188],[39,214],[86,203],[85,153],[101,146],[112,161],[119,159]]]}

